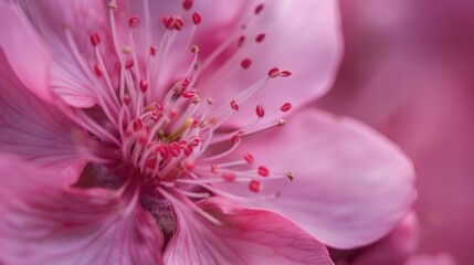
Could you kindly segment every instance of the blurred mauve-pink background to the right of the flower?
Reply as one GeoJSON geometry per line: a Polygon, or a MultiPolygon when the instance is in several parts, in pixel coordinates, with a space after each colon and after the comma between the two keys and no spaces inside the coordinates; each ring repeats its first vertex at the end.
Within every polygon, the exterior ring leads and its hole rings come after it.
{"type": "Polygon", "coordinates": [[[418,173],[415,253],[474,264],[474,1],[341,0],[345,55],[317,107],[397,142],[418,173]]]}

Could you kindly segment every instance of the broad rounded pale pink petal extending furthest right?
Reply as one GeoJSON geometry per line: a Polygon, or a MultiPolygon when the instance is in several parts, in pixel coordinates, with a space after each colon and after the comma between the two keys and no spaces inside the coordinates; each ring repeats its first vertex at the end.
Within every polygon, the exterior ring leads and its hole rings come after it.
{"type": "MultiPolygon", "coordinates": [[[[303,109],[285,126],[244,139],[241,151],[251,152],[255,166],[281,174],[292,170],[295,177],[263,181],[261,193],[280,197],[249,204],[286,215],[333,247],[352,248],[379,240],[415,198],[410,160],[386,138],[349,118],[303,109]]],[[[236,191],[235,183],[228,188],[236,191]]],[[[245,187],[241,190],[251,193],[245,187]]]]}

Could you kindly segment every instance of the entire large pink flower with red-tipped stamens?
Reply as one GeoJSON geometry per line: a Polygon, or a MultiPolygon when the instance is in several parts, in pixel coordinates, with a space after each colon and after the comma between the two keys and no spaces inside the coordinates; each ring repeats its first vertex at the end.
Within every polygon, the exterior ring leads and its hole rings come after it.
{"type": "Polygon", "coordinates": [[[371,243],[410,209],[396,146],[303,108],[340,57],[334,1],[15,1],[0,20],[2,263],[331,264],[319,241],[371,243]]]}

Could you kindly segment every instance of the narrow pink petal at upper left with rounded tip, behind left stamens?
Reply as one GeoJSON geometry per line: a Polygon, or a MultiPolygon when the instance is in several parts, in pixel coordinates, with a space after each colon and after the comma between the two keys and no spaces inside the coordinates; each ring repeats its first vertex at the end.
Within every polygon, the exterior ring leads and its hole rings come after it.
{"type": "MultiPolygon", "coordinates": [[[[93,74],[93,62],[97,62],[89,43],[89,35],[93,32],[102,34],[101,49],[107,47],[105,49],[107,52],[103,52],[106,66],[114,65],[114,59],[108,55],[112,50],[110,44],[105,38],[109,31],[106,3],[86,0],[59,2],[17,0],[15,2],[29,18],[32,28],[51,49],[53,64],[49,74],[53,91],[75,107],[91,107],[96,104],[94,89],[99,85],[93,74]],[[66,32],[71,32],[72,43],[77,47],[78,56],[74,55],[66,32]],[[85,66],[83,67],[82,64],[85,66]]],[[[25,47],[30,45],[25,45],[22,50],[25,47]]]]}

